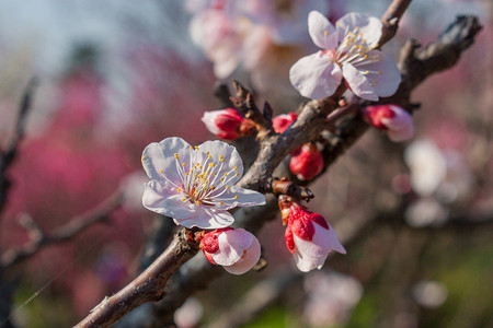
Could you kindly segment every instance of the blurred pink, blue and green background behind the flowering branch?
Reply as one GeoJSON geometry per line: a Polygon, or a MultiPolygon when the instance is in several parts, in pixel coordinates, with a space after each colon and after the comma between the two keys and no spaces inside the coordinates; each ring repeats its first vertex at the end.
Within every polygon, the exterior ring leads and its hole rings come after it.
{"type": "MultiPolygon", "coordinates": [[[[161,219],[140,204],[141,151],[171,136],[215,139],[200,117],[221,108],[216,81],[238,79],[275,114],[295,112],[288,70],[314,50],[308,12],[381,16],[390,3],[252,0],[234,23],[215,23],[225,20],[207,11],[217,2],[0,0],[2,147],[25,85],[39,79],[8,171],[2,254],[30,241],[26,215],[50,232],[116,190],[127,195],[108,223],[4,268],[14,326],[72,326],[136,276],[161,219]]],[[[311,185],[310,210],[347,241],[347,255],[301,276],[280,220],[271,222],[259,236],[267,268],[214,281],[176,316],[181,327],[232,325],[231,303],[268,277],[285,283],[246,327],[493,327],[492,11],[488,0],[415,0],[386,45],[398,59],[406,39],[426,45],[458,14],[483,25],[456,67],[414,92],[413,140],[370,131],[311,185]]]]}

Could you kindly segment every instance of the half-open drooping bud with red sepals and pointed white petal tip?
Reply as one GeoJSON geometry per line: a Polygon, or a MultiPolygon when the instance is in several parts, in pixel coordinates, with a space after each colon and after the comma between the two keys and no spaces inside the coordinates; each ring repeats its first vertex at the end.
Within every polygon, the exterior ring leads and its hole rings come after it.
{"type": "Polygon", "coordinates": [[[286,227],[286,246],[302,272],[321,269],[333,250],[346,254],[332,226],[318,213],[293,203],[286,227]]]}

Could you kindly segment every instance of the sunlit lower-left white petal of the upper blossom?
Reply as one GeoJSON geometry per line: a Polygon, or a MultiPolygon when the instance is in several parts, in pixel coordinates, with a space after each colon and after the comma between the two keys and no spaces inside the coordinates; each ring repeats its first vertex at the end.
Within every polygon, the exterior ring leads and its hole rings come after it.
{"type": "Polygon", "coordinates": [[[320,99],[334,94],[341,84],[341,69],[318,51],[302,57],[289,70],[289,80],[302,96],[320,99]]]}

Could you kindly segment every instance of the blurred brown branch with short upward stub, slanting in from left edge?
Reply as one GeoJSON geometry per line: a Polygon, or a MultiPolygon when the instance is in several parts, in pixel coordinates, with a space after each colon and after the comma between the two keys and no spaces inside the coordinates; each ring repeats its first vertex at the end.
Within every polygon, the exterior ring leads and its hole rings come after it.
{"type": "Polygon", "coordinates": [[[0,267],[2,269],[12,267],[23,260],[31,258],[39,250],[55,244],[60,244],[72,239],[79,233],[85,231],[89,226],[98,222],[105,222],[108,214],[122,204],[123,194],[115,192],[104,200],[96,208],[85,214],[74,216],[67,224],[60,226],[49,234],[36,225],[28,216],[24,216],[21,224],[27,230],[31,241],[18,249],[9,249],[1,256],[0,267]]]}

